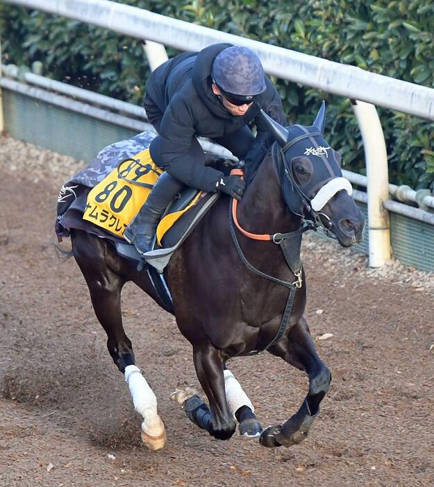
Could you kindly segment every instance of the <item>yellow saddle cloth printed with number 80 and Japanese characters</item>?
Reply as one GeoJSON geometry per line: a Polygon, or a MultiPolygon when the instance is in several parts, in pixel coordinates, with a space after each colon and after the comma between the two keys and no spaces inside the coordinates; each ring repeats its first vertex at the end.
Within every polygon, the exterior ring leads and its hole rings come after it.
{"type": "MultiPolygon", "coordinates": [[[[83,219],[118,237],[147,200],[153,185],[162,174],[149,155],[149,148],[126,159],[90,190],[83,219]]],[[[184,210],[167,214],[158,225],[157,241],[197,202],[201,191],[184,210]]]]}

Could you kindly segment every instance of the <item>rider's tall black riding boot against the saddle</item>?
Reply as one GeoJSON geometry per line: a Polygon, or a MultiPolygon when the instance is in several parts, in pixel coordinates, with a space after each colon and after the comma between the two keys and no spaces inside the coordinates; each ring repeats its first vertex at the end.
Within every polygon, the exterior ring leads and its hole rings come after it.
{"type": "Polygon", "coordinates": [[[162,173],[158,178],[146,203],[124,232],[124,238],[129,243],[133,243],[137,252],[144,254],[151,250],[153,237],[167,205],[183,187],[183,182],[168,173],[162,173]]]}

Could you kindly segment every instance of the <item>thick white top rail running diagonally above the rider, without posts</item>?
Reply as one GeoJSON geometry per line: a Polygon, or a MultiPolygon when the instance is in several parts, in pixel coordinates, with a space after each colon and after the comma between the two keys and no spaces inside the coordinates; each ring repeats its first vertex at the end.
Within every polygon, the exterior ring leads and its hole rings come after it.
{"type": "Polygon", "coordinates": [[[278,78],[434,120],[434,89],[387,78],[358,67],[341,65],[109,0],[3,1],[81,20],[182,51],[198,51],[215,42],[248,46],[258,53],[265,71],[278,78]]]}

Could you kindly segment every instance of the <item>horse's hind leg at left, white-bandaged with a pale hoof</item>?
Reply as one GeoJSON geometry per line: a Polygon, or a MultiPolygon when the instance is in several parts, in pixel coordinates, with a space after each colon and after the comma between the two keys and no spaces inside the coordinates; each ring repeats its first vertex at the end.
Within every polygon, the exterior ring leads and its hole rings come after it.
{"type": "MultiPolygon", "coordinates": [[[[107,334],[107,348],[133,396],[135,410],[143,417],[142,441],[151,450],[165,445],[165,427],[157,413],[157,399],[134,363],[130,339],[122,325],[121,291],[125,280],[106,264],[107,243],[85,232],[72,232],[74,257],[87,282],[99,323],[107,334]]],[[[111,250],[111,249],[110,249],[111,250]]]]}

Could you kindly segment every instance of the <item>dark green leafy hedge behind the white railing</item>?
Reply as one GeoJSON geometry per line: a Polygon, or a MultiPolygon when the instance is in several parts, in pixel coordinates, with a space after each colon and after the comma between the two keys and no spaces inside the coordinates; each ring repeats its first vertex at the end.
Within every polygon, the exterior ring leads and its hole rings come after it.
{"type": "MultiPolygon", "coordinates": [[[[120,0],[187,22],[434,87],[432,0],[120,0]]],[[[3,62],[42,61],[44,75],[141,103],[149,66],[141,42],[74,20],[0,4],[3,62]]],[[[169,55],[176,54],[168,49],[169,55]]],[[[310,124],[328,103],[327,129],[344,166],[364,172],[350,102],[275,80],[290,122],[310,124]]],[[[378,109],[390,180],[434,187],[433,123],[378,109]]]]}

